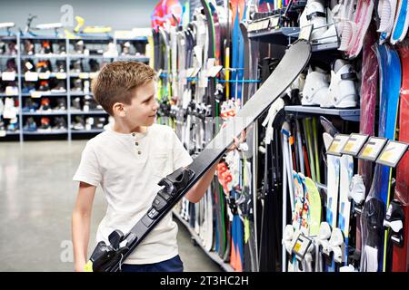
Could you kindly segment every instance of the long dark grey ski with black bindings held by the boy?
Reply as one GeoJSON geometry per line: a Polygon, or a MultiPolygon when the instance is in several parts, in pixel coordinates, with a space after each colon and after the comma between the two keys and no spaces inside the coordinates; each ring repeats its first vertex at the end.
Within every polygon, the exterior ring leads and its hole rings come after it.
{"type": "Polygon", "coordinates": [[[115,272],[120,270],[122,263],[144,240],[146,235],[175,206],[175,203],[192,189],[195,183],[223,156],[232,144],[233,136],[239,136],[253,121],[268,109],[294,79],[304,70],[311,56],[311,44],[299,40],[290,46],[283,59],[264,84],[246,102],[235,117],[226,122],[226,126],[217,133],[205,150],[201,151],[187,169],[177,169],[158,183],[163,186],[145,216],[141,218],[130,231],[124,235],[115,230],[109,236],[109,244],[100,241],[86,270],[115,272]]]}

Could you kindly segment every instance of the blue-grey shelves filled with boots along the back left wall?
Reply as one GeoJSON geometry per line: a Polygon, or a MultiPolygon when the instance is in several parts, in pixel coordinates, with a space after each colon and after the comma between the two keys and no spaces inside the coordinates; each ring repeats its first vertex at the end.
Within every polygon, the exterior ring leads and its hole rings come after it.
{"type": "MultiPolygon", "coordinates": [[[[79,35],[78,35],[79,36],[79,35]]],[[[69,62],[70,60],[83,60],[83,63],[86,63],[90,59],[96,59],[98,63],[102,62],[111,62],[115,60],[135,60],[135,61],[140,61],[147,63],[149,61],[149,57],[147,57],[145,54],[140,54],[143,53],[143,51],[139,50],[137,45],[135,45],[135,52],[132,51],[132,55],[121,55],[122,50],[118,49],[119,55],[115,56],[104,56],[103,54],[97,54],[97,55],[85,55],[85,54],[79,54],[76,53],[74,50],[75,43],[77,41],[83,40],[85,42],[86,48],[91,49],[91,46],[95,44],[95,48],[97,47],[98,49],[102,46],[106,46],[109,43],[123,43],[125,41],[129,42],[147,42],[147,37],[134,37],[134,38],[115,38],[113,34],[89,34],[89,35],[81,35],[78,38],[75,39],[68,39],[65,37],[63,34],[54,34],[53,32],[47,32],[46,34],[15,34],[13,36],[9,35],[0,35],[0,41],[13,41],[16,43],[16,47],[18,47],[19,51],[16,54],[0,54],[0,62],[3,63],[2,65],[5,65],[5,61],[9,58],[14,58],[15,63],[17,63],[17,72],[15,72],[15,82],[16,82],[16,87],[19,89],[19,92],[15,95],[8,95],[5,94],[5,92],[0,92],[0,99],[7,98],[7,97],[12,97],[15,100],[18,98],[20,101],[20,105],[18,107],[18,110],[20,111],[19,117],[27,117],[27,116],[33,116],[33,117],[42,117],[42,116],[49,116],[51,118],[55,118],[53,116],[63,116],[67,123],[70,124],[72,123],[72,119],[75,118],[75,116],[86,116],[86,117],[106,117],[108,114],[105,111],[23,111],[23,106],[25,104],[25,99],[26,98],[37,98],[38,100],[41,100],[41,98],[65,98],[65,100],[70,100],[72,98],[76,97],[82,97],[82,96],[92,96],[92,92],[72,92],[70,91],[74,89],[74,87],[71,85],[72,81],[75,80],[75,78],[79,78],[83,81],[89,80],[91,81],[95,76],[98,74],[98,72],[81,72],[81,73],[76,73],[76,72],[69,72],[70,70],[67,69],[67,72],[65,73],[55,73],[55,72],[50,72],[50,73],[38,73],[38,82],[41,82],[43,80],[49,80],[51,82],[54,81],[63,81],[66,84],[66,92],[62,91],[56,91],[56,92],[39,92],[39,91],[31,91],[33,90],[32,86],[27,86],[25,83],[27,82],[25,79],[25,66],[22,63],[25,63],[26,60],[32,59],[34,63],[37,63],[41,60],[50,60],[51,62],[55,62],[58,60],[61,60],[64,62],[67,66],[67,68],[70,66],[69,62]],[[34,53],[33,55],[28,55],[25,53],[25,47],[24,43],[25,40],[30,40],[32,43],[35,44],[35,52],[39,53],[34,53]],[[51,43],[55,45],[63,45],[65,46],[65,53],[59,53],[61,51],[55,50],[55,53],[40,53],[40,50],[37,50],[39,47],[40,43],[44,40],[50,41],[51,43]],[[138,54],[136,54],[138,53],[138,54]],[[23,61],[23,62],[21,62],[23,61]],[[70,87],[71,85],[71,87],[70,87]]],[[[118,48],[118,45],[115,45],[118,48]]],[[[106,49],[103,48],[105,51],[106,49]]],[[[93,52],[90,50],[90,53],[93,52]]],[[[8,52],[6,52],[8,53],[8,52]]],[[[86,66],[87,68],[87,66],[86,66]]],[[[74,71],[74,70],[73,70],[74,71]]],[[[0,82],[3,82],[0,80],[0,82]]],[[[36,82],[36,81],[35,81],[36,82]]],[[[37,117],[37,118],[38,118],[37,117]]],[[[65,131],[25,131],[24,130],[24,123],[20,122],[19,123],[19,131],[20,133],[8,133],[7,135],[17,135],[20,136],[19,140],[24,141],[25,136],[30,136],[30,138],[27,137],[27,139],[35,139],[35,137],[32,138],[32,136],[43,136],[43,135],[63,135],[67,134],[68,140],[71,140],[72,134],[75,134],[75,137],[82,138],[81,134],[88,134],[88,133],[100,133],[104,130],[102,129],[95,129],[91,131],[75,131],[73,128],[68,127],[65,131]]],[[[50,139],[53,138],[50,136],[50,139]]],[[[39,137],[41,139],[41,137],[39,137]]],[[[47,139],[47,137],[43,138],[47,139]]]]}

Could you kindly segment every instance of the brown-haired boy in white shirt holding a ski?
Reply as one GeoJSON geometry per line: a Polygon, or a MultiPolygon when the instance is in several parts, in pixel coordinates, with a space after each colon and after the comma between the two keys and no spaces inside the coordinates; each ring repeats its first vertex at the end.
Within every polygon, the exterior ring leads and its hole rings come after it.
{"type": "MultiPolygon", "coordinates": [[[[154,124],[158,110],[155,71],[148,65],[108,63],[92,83],[92,91],[115,123],[111,130],[88,140],[73,178],[80,182],[72,220],[75,271],[84,271],[87,261],[98,185],[108,205],[96,240],[108,243],[112,231],[127,233],[145,215],[160,189],[160,179],[193,161],[171,128],[154,124]]],[[[217,162],[185,198],[195,203],[205,195],[216,166],[217,162]]],[[[176,234],[177,226],[169,213],[125,260],[122,270],[182,272],[176,234]]]]}

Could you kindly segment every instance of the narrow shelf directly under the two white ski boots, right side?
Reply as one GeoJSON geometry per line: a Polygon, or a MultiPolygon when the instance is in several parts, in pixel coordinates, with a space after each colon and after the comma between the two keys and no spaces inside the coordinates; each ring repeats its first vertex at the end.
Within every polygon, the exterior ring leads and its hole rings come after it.
{"type": "Polygon", "coordinates": [[[346,121],[359,121],[360,109],[322,109],[320,107],[311,106],[285,106],[287,112],[294,112],[296,117],[304,117],[308,115],[333,115],[339,116],[346,121]]]}

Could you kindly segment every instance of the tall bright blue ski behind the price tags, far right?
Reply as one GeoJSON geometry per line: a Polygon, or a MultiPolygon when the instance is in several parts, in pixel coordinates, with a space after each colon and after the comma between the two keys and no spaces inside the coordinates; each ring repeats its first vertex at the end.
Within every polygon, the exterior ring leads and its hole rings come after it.
{"type": "MultiPolygon", "coordinates": [[[[378,136],[394,140],[397,105],[401,86],[401,63],[398,54],[387,44],[378,45],[380,69],[380,111],[378,136]],[[390,76],[394,75],[394,78],[390,76]]],[[[371,189],[362,211],[361,271],[383,271],[386,263],[386,235],[383,220],[391,189],[392,169],[376,165],[371,189]]]]}

